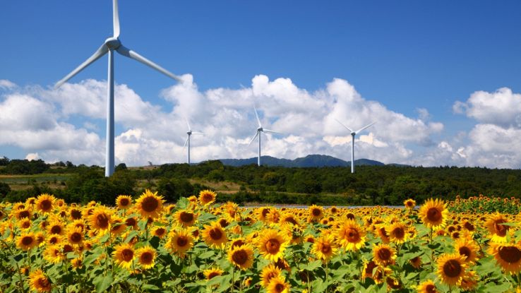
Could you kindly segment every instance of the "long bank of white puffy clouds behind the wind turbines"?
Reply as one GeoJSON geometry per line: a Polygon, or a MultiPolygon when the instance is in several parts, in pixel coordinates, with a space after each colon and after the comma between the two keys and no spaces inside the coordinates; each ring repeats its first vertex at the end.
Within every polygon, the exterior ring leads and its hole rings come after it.
{"type": "MultiPolygon", "coordinates": [[[[200,90],[191,75],[184,83],[162,90],[171,107],[143,100],[127,85],[116,85],[116,164],[146,165],[185,162],[188,119],[193,131],[193,162],[218,158],[253,157],[256,143],[256,106],[263,127],[284,133],[262,135],[263,155],[295,158],[321,153],[350,160],[351,136],[335,119],[353,129],[376,121],[355,141],[355,158],[420,165],[425,150],[436,149],[433,136],[443,124],[431,121],[426,109],[413,118],[366,100],[347,80],[335,78],[309,92],[289,78],[255,76],[248,88],[200,90]]],[[[4,95],[0,111],[0,145],[17,145],[48,161],[70,160],[104,164],[106,83],[83,80],[58,90],[40,87],[4,95]],[[30,105],[30,107],[27,107],[30,105]],[[76,119],[80,118],[78,123],[76,119]],[[4,126],[13,125],[14,128],[4,126]],[[6,130],[8,129],[8,130],[6,130]]],[[[435,164],[436,165],[436,164],[435,164]]]]}

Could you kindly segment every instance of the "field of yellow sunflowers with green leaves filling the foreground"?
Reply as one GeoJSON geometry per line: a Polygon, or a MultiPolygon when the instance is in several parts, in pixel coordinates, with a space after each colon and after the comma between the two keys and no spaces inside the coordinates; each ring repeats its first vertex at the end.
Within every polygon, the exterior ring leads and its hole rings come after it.
{"type": "Polygon", "coordinates": [[[297,209],[215,197],[0,203],[0,292],[521,292],[517,199],[499,213],[468,208],[486,198],[297,209]]]}

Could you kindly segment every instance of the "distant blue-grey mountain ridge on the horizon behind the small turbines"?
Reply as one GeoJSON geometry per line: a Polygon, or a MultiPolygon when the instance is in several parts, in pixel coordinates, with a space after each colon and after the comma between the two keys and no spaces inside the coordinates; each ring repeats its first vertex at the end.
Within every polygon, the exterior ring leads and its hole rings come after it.
{"type": "MultiPolygon", "coordinates": [[[[244,166],[257,164],[257,157],[251,157],[249,159],[222,159],[222,164],[229,166],[244,166]]],[[[354,160],[355,165],[371,165],[371,166],[383,166],[383,162],[378,162],[368,159],[354,160]]],[[[330,155],[307,155],[306,157],[297,157],[295,160],[278,159],[276,157],[270,157],[263,155],[261,157],[262,165],[266,166],[280,166],[280,167],[350,167],[351,162],[340,160],[330,155]]]]}

